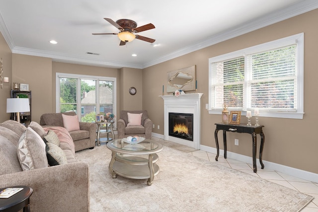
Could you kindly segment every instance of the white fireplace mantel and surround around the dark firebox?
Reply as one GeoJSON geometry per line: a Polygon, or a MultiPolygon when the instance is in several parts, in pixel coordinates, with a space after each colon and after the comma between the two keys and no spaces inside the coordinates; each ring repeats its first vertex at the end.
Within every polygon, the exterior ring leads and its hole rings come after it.
{"type": "Polygon", "coordinates": [[[203,93],[160,96],[164,100],[164,140],[184,144],[195,149],[200,149],[200,117],[201,117],[201,96],[203,93]],[[190,113],[193,114],[193,141],[169,136],[169,113],[190,113]]]}

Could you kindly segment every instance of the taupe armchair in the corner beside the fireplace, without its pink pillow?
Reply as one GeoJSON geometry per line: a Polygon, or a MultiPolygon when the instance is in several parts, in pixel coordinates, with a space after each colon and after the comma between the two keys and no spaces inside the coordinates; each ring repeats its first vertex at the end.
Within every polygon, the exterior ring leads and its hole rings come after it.
{"type": "Polygon", "coordinates": [[[140,136],[146,139],[151,139],[153,122],[148,118],[147,110],[140,111],[120,111],[120,119],[117,122],[118,138],[123,139],[128,136],[140,136]],[[128,114],[143,114],[141,117],[141,126],[127,126],[128,114]]]}

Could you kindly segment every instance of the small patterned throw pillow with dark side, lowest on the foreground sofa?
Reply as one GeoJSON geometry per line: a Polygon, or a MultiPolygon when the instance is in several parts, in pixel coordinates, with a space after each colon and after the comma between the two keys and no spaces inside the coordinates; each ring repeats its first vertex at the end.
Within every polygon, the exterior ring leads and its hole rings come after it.
{"type": "Polygon", "coordinates": [[[68,163],[64,151],[54,143],[46,143],[46,156],[50,166],[68,163]]]}

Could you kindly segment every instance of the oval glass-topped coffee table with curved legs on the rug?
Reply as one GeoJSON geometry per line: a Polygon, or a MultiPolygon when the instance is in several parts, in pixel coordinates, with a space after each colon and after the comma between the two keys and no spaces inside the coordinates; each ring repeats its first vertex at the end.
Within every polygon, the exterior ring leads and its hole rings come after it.
{"type": "Polygon", "coordinates": [[[153,184],[155,175],[159,173],[156,162],[159,159],[157,153],[163,149],[161,143],[146,139],[129,144],[116,139],[108,142],[107,147],[112,152],[109,172],[113,179],[120,175],[132,179],[148,179],[147,184],[153,184]]]}

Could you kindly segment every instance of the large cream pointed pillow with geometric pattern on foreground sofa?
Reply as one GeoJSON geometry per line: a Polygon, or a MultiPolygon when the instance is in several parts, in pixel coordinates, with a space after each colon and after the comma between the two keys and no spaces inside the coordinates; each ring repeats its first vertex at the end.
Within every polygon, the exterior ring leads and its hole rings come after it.
{"type": "Polygon", "coordinates": [[[21,135],[17,154],[23,171],[49,166],[45,143],[32,128],[28,127],[21,135]]]}

